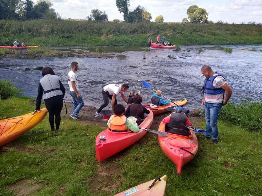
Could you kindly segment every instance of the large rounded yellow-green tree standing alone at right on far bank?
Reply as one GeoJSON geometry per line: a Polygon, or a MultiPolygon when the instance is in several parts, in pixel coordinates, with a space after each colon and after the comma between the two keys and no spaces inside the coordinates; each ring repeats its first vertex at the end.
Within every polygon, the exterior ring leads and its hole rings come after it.
{"type": "Polygon", "coordinates": [[[208,23],[208,12],[203,8],[196,5],[189,6],[186,13],[192,23],[208,23]]]}

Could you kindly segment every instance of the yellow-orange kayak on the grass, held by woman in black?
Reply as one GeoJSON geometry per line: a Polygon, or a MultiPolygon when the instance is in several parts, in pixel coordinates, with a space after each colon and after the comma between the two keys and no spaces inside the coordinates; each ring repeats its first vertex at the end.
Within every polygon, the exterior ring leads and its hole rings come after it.
{"type": "Polygon", "coordinates": [[[36,126],[46,116],[47,109],[43,108],[41,111],[33,113],[0,120],[0,146],[18,138],[36,126]]]}

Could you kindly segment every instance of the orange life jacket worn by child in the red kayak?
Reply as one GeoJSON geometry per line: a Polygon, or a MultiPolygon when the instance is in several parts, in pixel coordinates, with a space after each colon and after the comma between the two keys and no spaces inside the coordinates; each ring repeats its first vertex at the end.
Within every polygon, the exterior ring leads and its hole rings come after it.
{"type": "Polygon", "coordinates": [[[109,129],[111,131],[119,131],[119,132],[125,132],[125,131],[129,131],[129,129],[125,130],[125,122],[126,122],[127,118],[122,115],[122,116],[117,116],[115,114],[113,114],[112,116],[110,116],[109,118],[109,129]]]}

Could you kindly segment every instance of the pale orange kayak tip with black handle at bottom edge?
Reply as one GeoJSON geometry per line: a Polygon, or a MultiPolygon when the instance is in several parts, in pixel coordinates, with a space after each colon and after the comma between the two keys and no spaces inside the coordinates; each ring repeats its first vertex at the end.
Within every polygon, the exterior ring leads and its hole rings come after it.
{"type": "Polygon", "coordinates": [[[114,196],[164,196],[166,179],[166,175],[163,175],[161,178],[134,186],[114,196]]]}

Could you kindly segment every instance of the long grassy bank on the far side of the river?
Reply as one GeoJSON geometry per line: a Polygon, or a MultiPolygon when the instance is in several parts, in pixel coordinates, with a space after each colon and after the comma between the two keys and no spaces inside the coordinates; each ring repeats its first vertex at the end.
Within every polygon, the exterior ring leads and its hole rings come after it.
{"type": "Polygon", "coordinates": [[[178,45],[262,44],[262,25],[113,23],[95,21],[0,21],[0,45],[15,39],[27,45],[146,45],[157,35],[178,45]]]}

